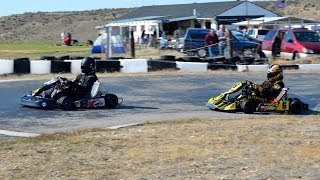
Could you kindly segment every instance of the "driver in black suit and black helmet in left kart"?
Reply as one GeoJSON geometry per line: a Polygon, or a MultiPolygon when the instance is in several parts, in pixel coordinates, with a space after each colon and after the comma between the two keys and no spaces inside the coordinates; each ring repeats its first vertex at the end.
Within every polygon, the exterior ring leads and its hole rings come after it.
{"type": "Polygon", "coordinates": [[[36,90],[32,95],[37,96],[43,91],[46,96],[59,99],[62,96],[72,97],[74,100],[82,99],[90,94],[91,88],[98,80],[96,76],[96,62],[91,57],[85,57],[81,61],[81,74],[79,74],[73,81],[67,81],[61,89],[54,89],[52,87],[42,87],[36,90]]]}

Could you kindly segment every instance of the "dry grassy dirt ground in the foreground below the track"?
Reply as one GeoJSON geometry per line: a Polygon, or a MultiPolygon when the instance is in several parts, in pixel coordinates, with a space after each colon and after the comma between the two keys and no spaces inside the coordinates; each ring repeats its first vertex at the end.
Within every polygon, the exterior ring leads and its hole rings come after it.
{"type": "Polygon", "coordinates": [[[145,123],[0,147],[1,179],[318,179],[320,116],[145,123]]]}

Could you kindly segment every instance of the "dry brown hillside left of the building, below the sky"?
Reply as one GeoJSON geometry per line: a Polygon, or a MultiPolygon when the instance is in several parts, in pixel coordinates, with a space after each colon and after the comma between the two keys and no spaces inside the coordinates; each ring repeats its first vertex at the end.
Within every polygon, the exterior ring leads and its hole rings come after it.
{"type": "Polygon", "coordinates": [[[101,9],[73,12],[37,12],[0,17],[0,42],[59,42],[61,32],[70,32],[84,42],[98,35],[96,26],[131,9],[101,9]]]}

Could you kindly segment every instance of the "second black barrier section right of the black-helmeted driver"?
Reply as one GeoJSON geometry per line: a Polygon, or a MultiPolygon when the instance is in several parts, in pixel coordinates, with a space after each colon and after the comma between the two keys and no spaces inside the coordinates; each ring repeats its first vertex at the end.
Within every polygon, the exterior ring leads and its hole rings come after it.
{"type": "Polygon", "coordinates": [[[148,60],[148,71],[177,70],[177,64],[172,61],[150,59],[148,60]]]}

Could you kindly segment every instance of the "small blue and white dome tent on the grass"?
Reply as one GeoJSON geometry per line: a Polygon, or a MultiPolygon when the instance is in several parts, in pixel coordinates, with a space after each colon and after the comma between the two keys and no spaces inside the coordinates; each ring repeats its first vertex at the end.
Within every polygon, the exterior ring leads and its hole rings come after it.
{"type": "MultiPolygon", "coordinates": [[[[93,43],[92,53],[105,53],[107,46],[107,33],[102,33],[93,43]]],[[[123,39],[120,35],[111,36],[111,47],[114,53],[125,53],[123,39]]]]}

